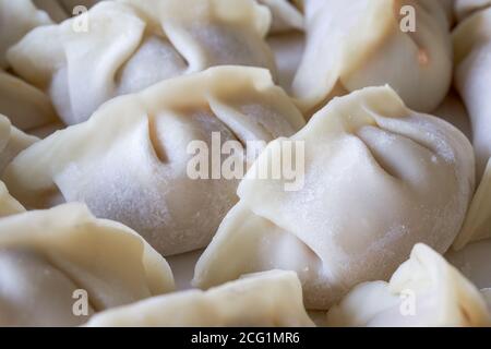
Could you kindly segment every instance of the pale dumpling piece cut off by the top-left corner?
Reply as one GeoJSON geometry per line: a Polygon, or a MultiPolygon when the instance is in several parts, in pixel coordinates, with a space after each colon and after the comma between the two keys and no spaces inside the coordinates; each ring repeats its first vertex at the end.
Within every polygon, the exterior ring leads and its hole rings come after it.
{"type": "Polygon", "coordinates": [[[5,53],[12,45],[31,29],[51,23],[48,14],[31,0],[0,0],[0,69],[8,67],[5,53]]]}

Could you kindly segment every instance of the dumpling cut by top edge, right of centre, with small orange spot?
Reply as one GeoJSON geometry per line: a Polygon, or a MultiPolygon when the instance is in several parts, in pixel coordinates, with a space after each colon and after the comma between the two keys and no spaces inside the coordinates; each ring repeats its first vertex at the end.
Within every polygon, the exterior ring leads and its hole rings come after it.
{"type": "Polygon", "coordinates": [[[451,85],[450,23],[439,1],[306,0],[306,32],[292,93],[309,115],[336,95],[384,84],[428,112],[451,85]],[[403,5],[416,10],[415,32],[403,5]]]}

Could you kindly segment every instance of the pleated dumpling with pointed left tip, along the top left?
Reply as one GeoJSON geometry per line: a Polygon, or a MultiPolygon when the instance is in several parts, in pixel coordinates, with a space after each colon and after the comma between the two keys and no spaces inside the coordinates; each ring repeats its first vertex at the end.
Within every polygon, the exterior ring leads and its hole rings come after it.
{"type": "Polygon", "coordinates": [[[49,94],[67,124],[106,100],[213,65],[275,71],[267,8],[250,0],[103,1],[87,31],[71,19],[32,31],[9,50],[13,70],[49,94]]]}

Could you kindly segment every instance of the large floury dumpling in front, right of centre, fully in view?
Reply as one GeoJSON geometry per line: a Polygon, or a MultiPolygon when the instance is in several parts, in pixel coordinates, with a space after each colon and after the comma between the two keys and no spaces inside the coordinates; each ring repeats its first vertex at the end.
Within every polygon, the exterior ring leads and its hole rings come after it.
{"type": "Polygon", "coordinates": [[[409,110],[390,87],[335,98],[263,151],[193,282],[207,288],[244,273],[292,269],[308,309],[327,309],[359,282],[387,279],[417,242],[445,252],[474,192],[474,166],[464,134],[409,110]],[[285,176],[255,179],[271,159],[288,156],[288,141],[304,147],[297,191],[285,190],[285,176]]]}

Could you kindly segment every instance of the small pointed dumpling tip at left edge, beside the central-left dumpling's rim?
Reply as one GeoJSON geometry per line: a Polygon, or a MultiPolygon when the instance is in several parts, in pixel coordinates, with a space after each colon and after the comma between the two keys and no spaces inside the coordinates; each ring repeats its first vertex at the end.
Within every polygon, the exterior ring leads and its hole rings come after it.
{"type": "Polygon", "coordinates": [[[12,127],[10,120],[0,115],[0,173],[19,153],[38,140],[12,127]]]}

